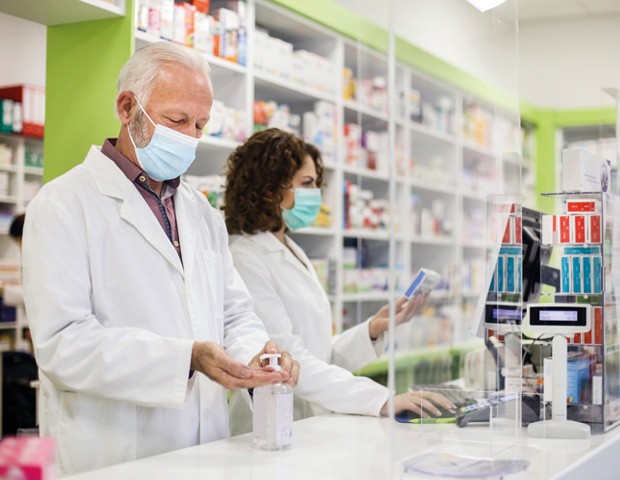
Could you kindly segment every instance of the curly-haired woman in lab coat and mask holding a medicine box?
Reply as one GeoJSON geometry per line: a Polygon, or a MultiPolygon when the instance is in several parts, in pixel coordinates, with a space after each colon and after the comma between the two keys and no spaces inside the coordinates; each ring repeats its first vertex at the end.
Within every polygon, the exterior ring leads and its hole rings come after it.
{"type": "MultiPolygon", "coordinates": [[[[387,388],[351,371],[377,359],[388,328],[388,306],[367,321],[332,336],[329,300],[304,251],[288,235],[312,224],[321,205],[319,150],[271,128],[252,135],[228,158],[224,214],[235,267],[255,300],[271,338],[301,365],[295,419],[326,411],[386,415],[387,388]]],[[[396,302],[396,322],[409,320],[422,298],[396,302]]],[[[438,394],[397,395],[396,411],[439,414],[432,402],[454,406],[438,394]],[[422,398],[424,397],[424,398],[422,398]]],[[[231,399],[231,430],[249,431],[247,404],[231,399]]]]}

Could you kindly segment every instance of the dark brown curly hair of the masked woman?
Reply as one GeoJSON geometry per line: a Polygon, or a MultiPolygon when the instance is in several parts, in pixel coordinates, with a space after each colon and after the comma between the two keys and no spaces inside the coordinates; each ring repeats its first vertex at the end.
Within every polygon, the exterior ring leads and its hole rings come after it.
{"type": "Polygon", "coordinates": [[[256,132],[228,157],[224,217],[230,234],[277,232],[282,228],[282,193],[302,167],[314,160],[317,186],[323,184],[319,150],[292,133],[269,128],[256,132]]]}

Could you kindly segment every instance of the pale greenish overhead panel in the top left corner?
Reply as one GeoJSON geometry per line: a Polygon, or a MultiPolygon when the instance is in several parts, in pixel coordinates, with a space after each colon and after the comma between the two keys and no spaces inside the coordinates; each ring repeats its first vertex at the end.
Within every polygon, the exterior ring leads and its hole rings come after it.
{"type": "Polygon", "coordinates": [[[0,12],[43,25],[103,20],[125,15],[125,0],[118,5],[104,0],[8,0],[0,12]]]}

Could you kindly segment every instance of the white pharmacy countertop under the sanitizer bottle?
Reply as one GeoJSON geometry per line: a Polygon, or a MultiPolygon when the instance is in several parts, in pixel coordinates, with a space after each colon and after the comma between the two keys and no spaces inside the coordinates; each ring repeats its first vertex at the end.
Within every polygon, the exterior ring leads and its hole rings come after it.
{"type": "Polygon", "coordinates": [[[488,426],[461,429],[454,424],[409,425],[389,418],[324,415],[295,422],[293,446],[288,451],[257,451],[247,434],[65,478],[426,478],[405,474],[402,467],[404,459],[425,452],[527,461],[527,472],[506,476],[506,480],[620,478],[620,428],[588,440],[529,439],[520,432],[513,436],[488,426]]]}

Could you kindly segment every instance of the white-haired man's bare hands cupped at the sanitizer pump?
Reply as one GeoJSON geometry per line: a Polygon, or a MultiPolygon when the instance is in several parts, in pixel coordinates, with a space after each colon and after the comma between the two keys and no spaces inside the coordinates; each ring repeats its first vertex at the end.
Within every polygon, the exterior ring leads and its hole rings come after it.
{"type": "Polygon", "coordinates": [[[213,342],[194,342],[190,368],[203,373],[214,382],[228,390],[256,388],[272,383],[296,385],[299,377],[299,364],[286,352],[280,352],[273,341],[265,344],[263,350],[250,362],[250,366],[233,360],[226,351],[213,342]],[[264,353],[280,353],[282,371],[263,368],[259,357],[264,353]]]}

